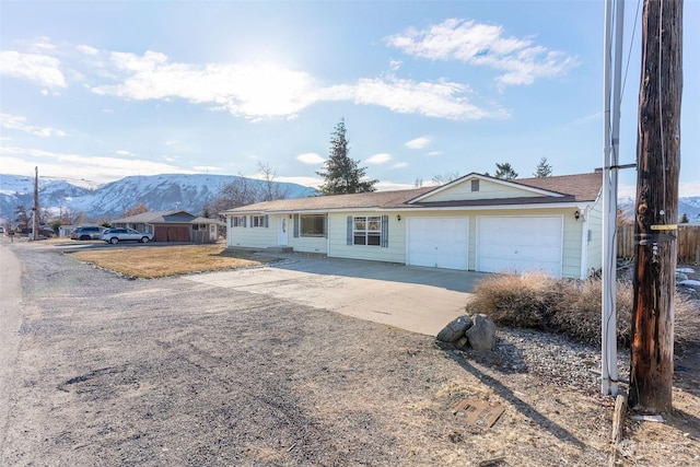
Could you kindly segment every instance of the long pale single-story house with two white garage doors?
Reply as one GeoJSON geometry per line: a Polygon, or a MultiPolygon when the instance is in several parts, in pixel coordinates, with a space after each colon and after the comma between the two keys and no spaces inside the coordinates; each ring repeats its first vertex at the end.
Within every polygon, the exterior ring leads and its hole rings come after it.
{"type": "Polygon", "coordinates": [[[284,199],[224,212],[229,247],[586,278],[602,266],[603,174],[284,199]]]}

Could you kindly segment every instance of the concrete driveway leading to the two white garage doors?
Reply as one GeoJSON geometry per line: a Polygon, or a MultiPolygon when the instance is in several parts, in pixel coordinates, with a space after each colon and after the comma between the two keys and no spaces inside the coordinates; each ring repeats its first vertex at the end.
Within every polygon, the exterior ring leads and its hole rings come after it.
{"type": "Polygon", "coordinates": [[[186,279],[435,336],[464,314],[469,293],[482,277],[479,272],[288,255],[281,264],[186,279]]]}

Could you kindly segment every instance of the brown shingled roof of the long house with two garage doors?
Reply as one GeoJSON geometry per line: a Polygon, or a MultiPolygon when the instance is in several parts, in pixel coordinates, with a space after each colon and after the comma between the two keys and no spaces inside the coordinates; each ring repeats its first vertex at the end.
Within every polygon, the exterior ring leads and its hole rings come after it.
{"type": "Polygon", "coordinates": [[[244,214],[252,212],[291,212],[291,211],[327,211],[349,209],[415,209],[429,207],[471,207],[471,206],[509,206],[541,205],[594,201],[603,186],[602,173],[562,175],[540,178],[521,178],[501,180],[487,175],[469,174],[446,185],[430,186],[394,191],[373,191],[353,195],[316,196],[298,199],[279,199],[258,202],[229,209],[224,214],[244,214]],[[472,178],[488,179],[504,186],[525,188],[537,196],[514,198],[491,198],[430,201],[430,196],[448,186],[458,185],[472,178]]]}

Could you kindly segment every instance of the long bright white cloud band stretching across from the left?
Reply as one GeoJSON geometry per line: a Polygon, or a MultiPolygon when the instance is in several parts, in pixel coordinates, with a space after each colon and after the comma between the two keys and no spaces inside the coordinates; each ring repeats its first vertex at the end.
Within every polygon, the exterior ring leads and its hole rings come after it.
{"type": "MultiPolygon", "coordinates": [[[[71,68],[48,55],[4,51],[2,72],[55,90],[67,86],[60,70],[65,67],[71,80],[84,83],[95,94],[128,101],[182,98],[253,121],[294,119],[316,103],[339,101],[454,120],[508,116],[500,108],[480,108],[470,102],[474,93],[469,86],[445,80],[413,81],[387,75],[323,86],[304,71],[271,62],[194,65],[173,62],[159,51],[137,55],[97,50],[84,44],[52,52],[79,62],[71,68]]],[[[392,60],[390,66],[396,69],[400,62],[392,60]]]]}

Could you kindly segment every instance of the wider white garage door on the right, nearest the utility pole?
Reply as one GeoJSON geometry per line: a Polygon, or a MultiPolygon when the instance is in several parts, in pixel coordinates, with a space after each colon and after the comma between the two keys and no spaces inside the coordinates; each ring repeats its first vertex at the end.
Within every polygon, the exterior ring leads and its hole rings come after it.
{"type": "Polygon", "coordinates": [[[476,269],[561,277],[562,235],[560,217],[479,217],[476,269]]]}

